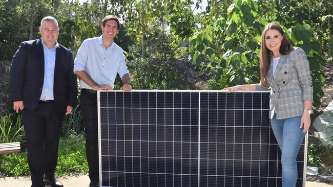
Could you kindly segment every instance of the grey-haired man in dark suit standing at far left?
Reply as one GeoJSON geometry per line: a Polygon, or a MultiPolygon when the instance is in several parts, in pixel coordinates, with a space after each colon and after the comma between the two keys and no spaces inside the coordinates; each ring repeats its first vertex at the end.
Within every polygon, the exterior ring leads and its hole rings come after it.
{"type": "Polygon", "coordinates": [[[13,58],[11,101],[23,117],[31,186],[63,186],[54,172],[62,121],[75,106],[77,78],[72,52],[57,43],[57,20],[44,17],[39,31],[41,38],[22,42],[13,58]]]}

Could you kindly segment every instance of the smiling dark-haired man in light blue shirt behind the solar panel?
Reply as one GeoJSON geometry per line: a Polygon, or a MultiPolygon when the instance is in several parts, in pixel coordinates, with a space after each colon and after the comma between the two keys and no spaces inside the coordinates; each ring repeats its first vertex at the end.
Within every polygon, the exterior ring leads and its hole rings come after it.
{"type": "Polygon", "coordinates": [[[119,32],[114,15],[103,18],[100,37],[82,42],[74,59],[74,73],[81,79],[81,114],[86,132],[90,187],[99,186],[97,91],[112,90],[119,74],[124,91],[130,91],[130,74],[122,49],[113,42],[119,32]]]}

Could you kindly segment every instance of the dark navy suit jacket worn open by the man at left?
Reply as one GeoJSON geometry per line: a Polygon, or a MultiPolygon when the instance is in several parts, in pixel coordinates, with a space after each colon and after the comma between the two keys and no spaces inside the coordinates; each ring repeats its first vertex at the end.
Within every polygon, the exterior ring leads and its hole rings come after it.
{"type": "MultiPolygon", "coordinates": [[[[56,49],[53,95],[58,112],[67,105],[75,107],[77,78],[73,73],[72,52],[62,45],[56,49]]],[[[10,69],[11,101],[23,101],[24,107],[34,110],[44,83],[44,51],[41,39],[24,41],[16,51],[10,69]]]]}

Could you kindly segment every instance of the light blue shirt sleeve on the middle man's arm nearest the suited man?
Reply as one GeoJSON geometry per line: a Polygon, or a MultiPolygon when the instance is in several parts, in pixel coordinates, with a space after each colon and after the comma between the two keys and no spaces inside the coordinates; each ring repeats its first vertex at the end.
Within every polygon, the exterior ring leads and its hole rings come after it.
{"type": "Polygon", "coordinates": [[[87,44],[86,40],[82,42],[80,48],[77,51],[76,57],[74,59],[74,74],[76,71],[85,71],[86,64],[88,62],[88,55],[89,55],[89,45],[87,44]]]}

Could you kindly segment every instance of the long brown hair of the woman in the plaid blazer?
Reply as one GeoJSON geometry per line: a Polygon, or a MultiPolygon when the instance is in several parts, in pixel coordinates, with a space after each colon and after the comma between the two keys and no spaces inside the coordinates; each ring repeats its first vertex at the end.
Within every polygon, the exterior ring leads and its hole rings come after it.
{"type": "Polygon", "coordinates": [[[283,36],[281,46],[280,46],[280,54],[281,55],[287,55],[291,51],[293,51],[292,45],[290,45],[289,40],[287,39],[283,29],[281,26],[275,22],[270,22],[265,29],[262,31],[262,40],[261,40],[261,48],[260,48],[260,78],[261,78],[261,84],[263,86],[268,87],[268,83],[266,80],[266,74],[268,72],[268,67],[270,64],[270,57],[272,56],[272,51],[268,50],[266,44],[265,44],[265,34],[268,30],[277,30],[281,33],[283,36]]]}

